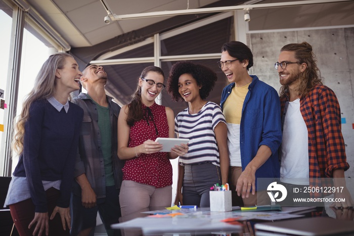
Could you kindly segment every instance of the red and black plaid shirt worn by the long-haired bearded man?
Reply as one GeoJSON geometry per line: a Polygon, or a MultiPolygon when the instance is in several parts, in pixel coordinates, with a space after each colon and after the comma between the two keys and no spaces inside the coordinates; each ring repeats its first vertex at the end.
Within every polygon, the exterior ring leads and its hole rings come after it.
{"type": "MultiPolygon", "coordinates": [[[[288,96],[281,97],[280,102],[284,117],[288,96]]],[[[300,111],[308,132],[309,178],[313,178],[309,185],[321,186],[320,179],[316,178],[333,177],[333,170],[346,171],[349,168],[341,132],[339,103],[330,88],[316,85],[300,99],[300,111]]]]}

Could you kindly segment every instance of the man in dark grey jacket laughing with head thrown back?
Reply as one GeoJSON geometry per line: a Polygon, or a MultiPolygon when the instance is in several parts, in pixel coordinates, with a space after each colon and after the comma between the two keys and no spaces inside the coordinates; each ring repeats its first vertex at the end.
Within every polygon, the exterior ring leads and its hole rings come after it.
{"type": "Polygon", "coordinates": [[[108,235],[118,223],[119,190],[123,161],[117,156],[118,104],[105,93],[107,74],[102,66],[90,65],[82,71],[81,84],[87,93],[73,99],[84,110],[75,180],[71,198],[71,235],[94,235],[99,211],[108,235]]]}

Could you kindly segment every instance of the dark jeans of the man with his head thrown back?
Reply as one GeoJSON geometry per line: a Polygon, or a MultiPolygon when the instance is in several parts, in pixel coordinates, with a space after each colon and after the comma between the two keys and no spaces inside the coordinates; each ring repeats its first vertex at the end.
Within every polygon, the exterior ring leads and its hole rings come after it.
{"type": "Polygon", "coordinates": [[[119,223],[120,205],[119,189],[115,186],[106,187],[106,198],[97,199],[97,205],[93,208],[85,208],[81,203],[81,196],[71,193],[71,230],[70,234],[75,236],[84,229],[92,228],[89,235],[94,235],[96,228],[97,212],[105,225],[108,235],[120,235],[120,230],[112,230],[110,225],[119,223]]]}

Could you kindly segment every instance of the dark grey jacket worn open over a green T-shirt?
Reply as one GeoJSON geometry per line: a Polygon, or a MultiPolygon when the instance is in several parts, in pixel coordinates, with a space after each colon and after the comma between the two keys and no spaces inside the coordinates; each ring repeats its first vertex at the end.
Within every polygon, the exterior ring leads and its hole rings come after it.
{"type": "MultiPolygon", "coordinates": [[[[113,102],[111,97],[106,97],[109,105],[109,115],[112,127],[112,162],[114,183],[115,187],[119,189],[123,180],[122,168],[124,166],[124,161],[120,160],[117,155],[117,122],[120,106],[113,102]]],[[[83,109],[83,120],[76,156],[74,177],[85,174],[91,184],[91,187],[94,189],[97,198],[105,198],[106,174],[103,153],[101,150],[101,132],[98,126],[99,118],[96,104],[84,93],[80,93],[77,97],[73,98],[72,102],[79,105],[83,109]]],[[[81,188],[76,181],[73,183],[72,192],[78,196],[81,195],[81,188]]]]}

